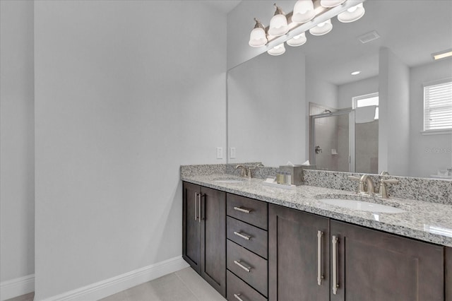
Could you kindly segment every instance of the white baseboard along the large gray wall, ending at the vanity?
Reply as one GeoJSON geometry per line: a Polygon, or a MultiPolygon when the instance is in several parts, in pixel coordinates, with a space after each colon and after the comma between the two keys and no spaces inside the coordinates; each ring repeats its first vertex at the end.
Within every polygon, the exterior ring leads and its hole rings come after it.
{"type": "MultiPolygon", "coordinates": [[[[189,264],[182,259],[182,256],[173,257],[165,261],[160,261],[157,264],[151,264],[144,268],[138,268],[135,271],[124,273],[119,276],[115,276],[104,281],[99,281],[90,285],[86,285],[76,290],[70,290],[69,292],[49,297],[42,301],[63,301],[63,300],[99,300],[109,295],[121,292],[133,286],[140,285],[151,281],[153,279],[165,276],[169,273],[174,273],[182,268],[188,267],[189,264]]],[[[35,301],[37,301],[35,299],[35,301]]]]}

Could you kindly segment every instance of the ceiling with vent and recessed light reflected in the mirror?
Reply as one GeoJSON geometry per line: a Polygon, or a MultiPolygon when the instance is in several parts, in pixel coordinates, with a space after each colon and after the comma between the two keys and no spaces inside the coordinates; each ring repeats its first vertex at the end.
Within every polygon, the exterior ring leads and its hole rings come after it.
{"type": "MultiPolygon", "coordinates": [[[[326,81],[341,85],[379,73],[379,49],[388,47],[408,66],[432,62],[432,53],[452,48],[452,1],[367,0],[365,15],[353,23],[333,18],[333,30],[323,36],[307,33],[301,51],[307,64],[326,81]],[[358,37],[376,30],[381,36],[367,44],[358,37]],[[358,76],[352,71],[360,70],[358,76]]],[[[290,49],[292,48],[292,49],[290,49]]]]}

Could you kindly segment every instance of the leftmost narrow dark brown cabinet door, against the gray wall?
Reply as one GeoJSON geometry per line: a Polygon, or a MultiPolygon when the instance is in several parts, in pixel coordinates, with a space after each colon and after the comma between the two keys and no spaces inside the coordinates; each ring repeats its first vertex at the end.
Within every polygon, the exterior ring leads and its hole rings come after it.
{"type": "Polygon", "coordinates": [[[201,223],[199,193],[201,187],[184,182],[182,210],[182,256],[198,273],[201,273],[201,223]]]}

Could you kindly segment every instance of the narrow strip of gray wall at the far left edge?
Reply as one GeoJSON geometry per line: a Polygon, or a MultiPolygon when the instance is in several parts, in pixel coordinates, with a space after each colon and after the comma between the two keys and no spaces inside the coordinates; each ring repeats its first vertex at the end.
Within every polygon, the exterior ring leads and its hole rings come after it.
{"type": "Polygon", "coordinates": [[[0,1],[0,13],[0,282],[4,283],[35,273],[33,2],[0,1]]]}

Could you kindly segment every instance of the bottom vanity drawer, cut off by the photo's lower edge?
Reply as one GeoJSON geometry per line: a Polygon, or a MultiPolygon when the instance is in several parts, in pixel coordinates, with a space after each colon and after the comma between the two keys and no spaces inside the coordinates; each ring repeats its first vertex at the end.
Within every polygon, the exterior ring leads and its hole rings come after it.
{"type": "Polygon", "coordinates": [[[227,293],[226,298],[230,301],[266,301],[267,298],[251,288],[242,279],[230,271],[226,271],[227,293]],[[237,297],[236,297],[237,296],[237,297]]]}

